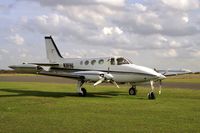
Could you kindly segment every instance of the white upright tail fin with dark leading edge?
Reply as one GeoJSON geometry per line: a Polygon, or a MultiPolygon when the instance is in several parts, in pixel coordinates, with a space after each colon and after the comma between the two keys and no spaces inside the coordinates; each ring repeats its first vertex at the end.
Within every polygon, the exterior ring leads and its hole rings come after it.
{"type": "Polygon", "coordinates": [[[63,58],[51,36],[45,37],[46,52],[49,62],[56,62],[63,58]]]}

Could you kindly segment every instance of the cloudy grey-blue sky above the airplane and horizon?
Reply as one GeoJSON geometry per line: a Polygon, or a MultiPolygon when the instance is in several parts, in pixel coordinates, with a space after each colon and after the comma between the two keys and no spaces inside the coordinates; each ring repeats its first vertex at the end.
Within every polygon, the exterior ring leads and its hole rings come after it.
{"type": "Polygon", "coordinates": [[[157,69],[200,71],[200,0],[1,0],[0,69],[63,57],[124,56],[157,69]]]}

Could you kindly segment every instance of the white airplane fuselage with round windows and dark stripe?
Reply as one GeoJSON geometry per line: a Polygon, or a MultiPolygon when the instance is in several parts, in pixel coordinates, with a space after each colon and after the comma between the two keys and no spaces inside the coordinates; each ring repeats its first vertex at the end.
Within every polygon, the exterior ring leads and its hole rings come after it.
{"type": "MultiPolygon", "coordinates": [[[[110,73],[113,80],[118,83],[137,84],[148,82],[150,80],[158,80],[165,78],[162,74],[157,73],[153,69],[138,66],[130,63],[128,60],[124,64],[118,64],[117,59],[123,57],[103,57],[103,58],[68,58],[60,59],[57,62],[59,67],[52,67],[51,71],[59,71],[60,73],[73,72],[83,75],[86,81],[98,81],[99,74],[110,73]],[[111,59],[113,62],[111,63],[111,59]]],[[[125,59],[125,58],[123,58],[125,59]]]]}

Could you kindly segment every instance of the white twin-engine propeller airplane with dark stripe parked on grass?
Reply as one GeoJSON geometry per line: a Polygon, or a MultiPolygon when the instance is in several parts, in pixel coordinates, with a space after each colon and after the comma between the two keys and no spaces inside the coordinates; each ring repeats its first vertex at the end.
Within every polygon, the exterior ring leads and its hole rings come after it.
{"type": "Polygon", "coordinates": [[[150,82],[151,91],[148,98],[155,99],[153,83],[159,81],[161,93],[161,80],[166,77],[156,70],[135,65],[124,57],[63,58],[51,36],[45,37],[45,43],[49,63],[26,63],[9,67],[21,73],[77,79],[77,91],[80,96],[87,94],[86,89],[82,87],[86,82],[93,82],[94,86],[109,82],[118,88],[120,83],[129,83],[129,95],[136,95],[136,85],[150,82]],[[48,70],[44,67],[48,67],[48,70]]]}

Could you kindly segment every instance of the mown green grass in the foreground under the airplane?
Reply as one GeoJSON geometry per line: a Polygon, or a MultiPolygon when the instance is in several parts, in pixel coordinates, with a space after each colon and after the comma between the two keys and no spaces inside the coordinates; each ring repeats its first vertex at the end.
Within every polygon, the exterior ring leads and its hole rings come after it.
{"type": "Polygon", "coordinates": [[[127,86],[0,82],[0,132],[200,132],[200,91],[163,89],[148,100],[148,89],[137,96],[127,86]]]}

